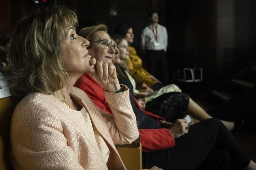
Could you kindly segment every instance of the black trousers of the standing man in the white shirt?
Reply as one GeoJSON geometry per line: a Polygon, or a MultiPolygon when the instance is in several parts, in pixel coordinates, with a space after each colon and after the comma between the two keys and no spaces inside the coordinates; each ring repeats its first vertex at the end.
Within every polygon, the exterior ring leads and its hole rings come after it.
{"type": "Polygon", "coordinates": [[[167,58],[164,50],[147,50],[146,59],[149,72],[162,83],[167,84],[169,71],[167,68],[167,58]]]}

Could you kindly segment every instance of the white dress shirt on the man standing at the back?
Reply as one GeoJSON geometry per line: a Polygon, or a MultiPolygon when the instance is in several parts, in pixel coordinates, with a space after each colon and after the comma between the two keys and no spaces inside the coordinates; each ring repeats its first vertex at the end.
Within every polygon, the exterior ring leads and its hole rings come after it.
{"type": "Polygon", "coordinates": [[[151,25],[148,25],[146,28],[143,29],[141,34],[141,48],[144,53],[145,49],[166,51],[167,44],[167,30],[163,25],[157,24],[157,27],[155,29],[153,29],[151,25]],[[157,40],[155,38],[156,33],[157,40]]]}

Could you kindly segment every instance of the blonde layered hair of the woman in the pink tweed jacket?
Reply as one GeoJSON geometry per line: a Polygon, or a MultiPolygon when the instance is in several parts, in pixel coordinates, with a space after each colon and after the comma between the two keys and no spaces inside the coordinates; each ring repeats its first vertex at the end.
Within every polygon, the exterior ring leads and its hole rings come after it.
{"type": "Polygon", "coordinates": [[[69,26],[78,26],[76,14],[58,5],[38,10],[16,23],[8,78],[14,95],[53,94],[66,84],[68,74],[60,59],[60,44],[69,26]]]}

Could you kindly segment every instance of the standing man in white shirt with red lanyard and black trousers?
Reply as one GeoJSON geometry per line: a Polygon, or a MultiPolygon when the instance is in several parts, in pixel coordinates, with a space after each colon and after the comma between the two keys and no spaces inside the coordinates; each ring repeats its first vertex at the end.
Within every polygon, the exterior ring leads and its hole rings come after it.
{"type": "Polygon", "coordinates": [[[149,72],[158,80],[167,84],[167,30],[163,25],[158,24],[157,12],[149,12],[148,19],[150,20],[150,25],[144,28],[141,34],[142,51],[146,56],[149,72]],[[157,72],[157,69],[159,69],[159,72],[157,72]]]}

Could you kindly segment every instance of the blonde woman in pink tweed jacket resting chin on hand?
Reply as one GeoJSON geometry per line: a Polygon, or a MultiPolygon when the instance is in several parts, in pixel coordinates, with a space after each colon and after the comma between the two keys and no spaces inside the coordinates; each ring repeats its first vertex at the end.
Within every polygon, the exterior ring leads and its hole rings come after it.
{"type": "Polygon", "coordinates": [[[9,82],[13,94],[25,96],[10,130],[15,169],[125,169],[114,144],[139,135],[129,89],[119,85],[113,64],[91,58],[76,26],[76,14],[57,5],[15,26],[9,82]],[[86,71],[105,88],[113,115],[73,87],[86,71]]]}

